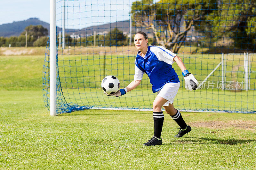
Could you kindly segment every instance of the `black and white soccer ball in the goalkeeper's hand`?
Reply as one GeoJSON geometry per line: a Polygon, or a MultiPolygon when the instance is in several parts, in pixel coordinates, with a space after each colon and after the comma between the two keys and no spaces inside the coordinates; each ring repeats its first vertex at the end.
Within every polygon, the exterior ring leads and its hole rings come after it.
{"type": "Polygon", "coordinates": [[[101,88],[108,94],[114,94],[119,90],[120,82],[115,76],[107,76],[101,82],[101,88]]]}

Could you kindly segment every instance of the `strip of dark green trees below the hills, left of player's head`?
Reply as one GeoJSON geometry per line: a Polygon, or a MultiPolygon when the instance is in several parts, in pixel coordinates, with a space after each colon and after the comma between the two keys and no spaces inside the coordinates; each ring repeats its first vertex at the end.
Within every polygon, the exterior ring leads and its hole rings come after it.
{"type": "MultiPolygon", "coordinates": [[[[27,26],[20,34],[20,36],[0,37],[0,47],[25,47],[26,46],[26,32],[28,47],[46,46],[49,39],[48,30],[41,25],[27,26]]],[[[57,37],[59,43],[59,37],[57,37]]],[[[62,41],[62,39],[61,39],[62,41]]],[[[129,36],[124,34],[118,28],[112,29],[110,32],[103,35],[91,35],[71,37],[69,34],[65,35],[65,43],[68,46],[122,46],[129,45],[129,36]],[[95,42],[94,42],[95,38],[95,42]],[[95,44],[94,44],[95,43],[95,44]]],[[[153,39],[149,40],[153,43],[153,39]]],[[[59,45],[59,44],[58,44],[59,45]]]]}

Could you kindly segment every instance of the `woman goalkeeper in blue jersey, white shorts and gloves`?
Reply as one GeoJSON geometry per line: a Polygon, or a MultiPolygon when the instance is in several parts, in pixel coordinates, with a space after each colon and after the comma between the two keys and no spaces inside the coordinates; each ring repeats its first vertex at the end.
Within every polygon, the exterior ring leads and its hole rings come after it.
{"type": "Polygon", "coordinates": [[[166,113],[171,115],[172,119],[180,126],[180,130],[175,137],[182,137],[191,131],[191,127],[183,120],[180,112],[173,107],[173,99],[180,87],[178,75],[172,68],[174,61],[182,71],[187,90],[196,90],[198,85],[196,78],[188,72],[178,55],[163,46],[148,46],[148,36],[146,33],[142,31],[135,33],[134,45],[140,50],[135,59],[134,80],[127,87],[120,89],[114,94],[107,95],[118,97],[126,94],[140,85],[143,73],[148,74],[150,83],[152,84],[152,91],[153,93],[157,92],[157,96],[153,102],[154,136],[143,145],[154,146],[163,143],[161,139],[164,123],[162,107],[164,107],[166,113]]]}

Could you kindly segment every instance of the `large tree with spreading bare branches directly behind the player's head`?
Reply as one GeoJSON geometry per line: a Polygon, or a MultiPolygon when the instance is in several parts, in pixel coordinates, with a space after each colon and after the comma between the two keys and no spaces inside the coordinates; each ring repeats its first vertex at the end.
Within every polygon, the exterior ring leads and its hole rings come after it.
{"type": "Polygon", "coordinates": [[[152,29],[158,44],[177,53],[191,27],[216,10],[216,0],[141,0],[131,9],[135,26],[152,29]]]}

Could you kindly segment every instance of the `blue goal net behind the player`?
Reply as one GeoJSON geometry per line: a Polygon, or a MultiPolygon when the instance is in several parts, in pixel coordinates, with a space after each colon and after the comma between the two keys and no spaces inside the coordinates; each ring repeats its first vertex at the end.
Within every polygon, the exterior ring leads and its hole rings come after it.
{"type": "MultiPolygon", "coordinates": [[[[57,114],[83,109],[152,109],[156,93],[144,74],[121,97],[108,97],[101,80],[116,76],[120,88],[134,76],[134,33],[148,34],[182,58],[199,81],[196,91],[180,79],[174,107],[186,111],[252,113],[256,110],[256,4],[250,0],[57,0],[57,114]]],[[[50,52],[46,47],[43,93],[50,108],[50,52]]]]}

